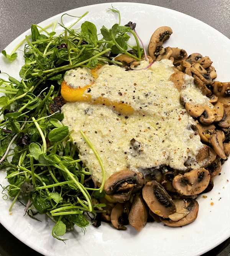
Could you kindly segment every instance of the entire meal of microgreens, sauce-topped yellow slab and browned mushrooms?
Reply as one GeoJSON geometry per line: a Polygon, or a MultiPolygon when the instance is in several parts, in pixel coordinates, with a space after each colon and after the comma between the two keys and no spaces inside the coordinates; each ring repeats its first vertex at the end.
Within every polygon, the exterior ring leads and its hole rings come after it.
{"type": "Polygon", "coordinates": [[[195,221],[196,198],[230,154],[230,83],[214,81],[209,57],[164,47],[168,26],[151,35],[147,54],[136,23],[103,26],[101,39],[90,22],[79,31],[62,21],[61,35],[52,25],[46,35],[31,26],[21,80],[0,80],[10,211],[18,199],[31,218],[46,213],[60,240],[101,221],[137,231],[195,221]]]}

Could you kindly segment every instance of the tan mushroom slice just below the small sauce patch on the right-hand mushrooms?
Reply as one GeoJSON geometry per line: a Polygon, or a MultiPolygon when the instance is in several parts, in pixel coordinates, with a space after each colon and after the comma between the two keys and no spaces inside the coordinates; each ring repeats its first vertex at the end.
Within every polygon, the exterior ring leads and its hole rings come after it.
{"type": "Polygon", "coordinates": [[[216,109],[208,105],[186,102],[185,108],[192,117],[200,116],[200,122],[206,125],[213,123],[217,116],[216,109]]]}

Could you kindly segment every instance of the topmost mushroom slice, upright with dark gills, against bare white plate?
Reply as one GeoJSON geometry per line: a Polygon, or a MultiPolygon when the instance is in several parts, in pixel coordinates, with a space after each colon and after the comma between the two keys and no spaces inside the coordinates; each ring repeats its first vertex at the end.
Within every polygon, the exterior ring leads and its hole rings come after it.
{"type": "Polygon", "coordinates": [[[160,51],[162,50],[163,42],[169,39],[172,34],[172,29],[170,27],[159,27],[151,36],[149,45],[148,45],[148,52],[149,55],[156,60],[160,51]]]}

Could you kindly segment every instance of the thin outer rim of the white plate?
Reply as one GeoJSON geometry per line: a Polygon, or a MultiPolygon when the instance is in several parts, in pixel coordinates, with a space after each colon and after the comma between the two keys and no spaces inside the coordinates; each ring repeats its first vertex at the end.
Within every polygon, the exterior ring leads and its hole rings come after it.
{"type": "MultiPolygon", "coordinates": [[[[69,10],[66,10],[64,12],[61,12],[61,13],[58,13],[52,17],[49,17],[47,18],[46,20],[43,20],[41,22],[39,22],[37,25],[41,25],[41,23],[44,23],[44,22],[48,22],[49,20],[51,19],[54,19],[54,18],[59,18],[62,14],[64,13],[67,13],[67,12],[71,12],[71,11],[74,11],[74,10],[79,10],[81,8],[84,8],[84,7],[94,7],[94,6],[105,6],[105,5],[116,5],[116,4],[127,4],[127,5],[145,5],[145,6],[151,6],[151,7],[154,7],[154,8],[159,8],[159,9],[165,9],[167,10],[168,12],[171,12],[171,13],[178,13],[179,15],[185,15],[187,17],[189,17],[190,19],[194,20],[194,21],[198,21],[198,22],[201,22],[203,23],[205,26],[208,26],[211,30],[215,31],[215,33],[218,33],[219,35],[221,35],[222,38],[225,38],[225,40],[229,41],[230,38],[228,38],[227,36],[223,35],[223,33],[221,33],[220,31],[218,31],[216,28],[210,26],[209,24],[199,20],[198,18],[195,18],[195,17],[192,17],[186,13],[183,13],[183,12],[179,12],[177,10],[173,10],[173,9],[170,9],[170,8],[166,8],[166,7],[161,7],[159,5],[152,5],[152,4],[147,4],[147,3],[140,3],[140,2],[105,2],[105,3],[97,3],[97,4],[90,4],[90,5],[84,5],[84,6],[81,6],[81,7],[77,7],[77,8],[73,8],[73,9],[69,9],[69,10]]],[[[13,43],[15,43],[15,41],[19,40],[20,37],[24,37],[28,32],[30,32],[30,28],[28,30],[26,30],[25,32],[21,33],[20,35],[18,35],[18,37],[16,37],[13,41],[11,41],[3,50],[7,50],[8,47],[10,47],[10,45],[12,45],[13,43]]],[[[229,160],[230,161],[230,160],[229,160]]],[[[32,244],[30,243],[30,241],[26,241],[26,239],[24,237],[20,237],[18,234],[16,234],[16,232],[14,232],[14,229],[13,229],[13,226],[10,226],[10,225],[7,225],[7,222],[2,222],[1,219],[0,219],[0,223],[2,224],[2,226],[7,229],[8,232],[10,232],[13,236],[15,236],[15,238],[17,238],[18,240],[20,240],[23,244],[26,244],[27,246],[29,246],[31,249],[37,251],[38,253],[41,253],[43,255],[46,255],[46,256],[53,256],[54,254],[53,253],[50,253],[47,249],[44,249],[43,247],[41,246],[38,246],[36,244],[32,244]]],[[[213,246],[210,246],[208,249],[205,249],[203,250],[202,252],[199,252],[197,254],[197,256],[200,256],[204,253],[207,253],[208,251],[212,250],[213,248],[217,247],[219,244],[223,243],[225,240],[227,240],[228,238],[230,238],[230,228],[229,228],[229,231],[227,234],[225,234],[225,236],[223,236],[221,239],[219,239],[217,241],[217,243],[215,243],[215,245],[213,246]]]]}

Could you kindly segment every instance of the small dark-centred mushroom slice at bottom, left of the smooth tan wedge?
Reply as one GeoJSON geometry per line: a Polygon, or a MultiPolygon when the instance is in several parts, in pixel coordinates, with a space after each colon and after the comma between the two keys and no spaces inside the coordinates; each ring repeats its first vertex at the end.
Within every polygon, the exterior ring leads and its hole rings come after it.
{"type": "Polygon", "coordinates": [[[123,204],[117,203],[111,211],[111,223],[118,230],[126,230],[128,216],[124,213],[123,204]]]}

